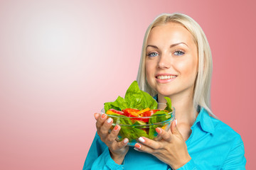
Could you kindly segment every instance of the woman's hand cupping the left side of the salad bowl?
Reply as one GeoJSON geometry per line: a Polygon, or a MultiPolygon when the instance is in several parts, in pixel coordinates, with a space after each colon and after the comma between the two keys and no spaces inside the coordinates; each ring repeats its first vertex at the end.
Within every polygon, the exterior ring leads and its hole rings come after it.
{"type": "Polygon", "coordinates": [[[127,138],[122,140],[121,142],[117,142],[116,138],[121,127],[116,125],[112,132],[109,133],[109,130],[112,126],[113,120],[112,118],[107,118],[106,114],[100,115],[99,113],[95,113],[96,128],[97,134],[100,136],[100,140],[105,142],[107,147],[110,149],[110,156],[117,164],[122,164],[124,161],[124,157],[127,154],[129,147],[127,143],[129,142],[127,138]]]}

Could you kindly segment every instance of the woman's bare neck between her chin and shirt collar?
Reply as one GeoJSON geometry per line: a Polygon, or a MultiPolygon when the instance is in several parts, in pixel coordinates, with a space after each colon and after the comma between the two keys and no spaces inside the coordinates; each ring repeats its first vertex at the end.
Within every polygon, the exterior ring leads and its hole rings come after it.
{"type": "MultiPolygon", "coordinates": [[[[192,126],[198,115],[193,107],[193,95],[179,94],[168,97],[171,98],[171,105],[175,108],[175,118],[178,123],[186,123],[192,126]]],[[[164,96],[161,94],[158,94],[158,100],[159,103],[166,103],[164,96]]]]}

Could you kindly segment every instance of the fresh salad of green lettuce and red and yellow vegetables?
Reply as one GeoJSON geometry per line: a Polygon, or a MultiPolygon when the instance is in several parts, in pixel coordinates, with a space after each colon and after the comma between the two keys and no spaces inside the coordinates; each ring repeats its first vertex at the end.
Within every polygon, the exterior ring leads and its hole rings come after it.
{"type": "Polygon", "coordinates": [[[174,117],[171,99],[165,99],[164,110],[158,109],[157,101],[140,90],[137,81],[133,81],[124,98],[118,96],[116,101],[105,103],[104,110],[113,119],[113,127],[117,124],[121,126],[119,140],[127,137],[132,142],[141,136],[154,139],[157,136],[155,129],[166,128],[174,117]]]}

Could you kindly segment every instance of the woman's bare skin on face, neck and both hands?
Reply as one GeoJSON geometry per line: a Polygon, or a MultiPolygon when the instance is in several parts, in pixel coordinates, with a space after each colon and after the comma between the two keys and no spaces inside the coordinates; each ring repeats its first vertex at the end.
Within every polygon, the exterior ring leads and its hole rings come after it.
{"type": "MultiPolygon", "coordinates": [[[[193,87],[198,72],[198,52],[193,36],[178,23],[156,26],[149,33],[146,42],[146,79],[152,89],[158,92],[159,103],[165,103],[164,96],[169,96],[176,108],[176,121],[171,123],[168,132],[156,128],[162,139],[158,142],[140,137],[134,149],[154,155],[172,169],[186,164],[191,157],[188,154],[186,140],[191,135],[193,117],[193,87]],[[157,74],[176,75],[171,81],[159,81],[157,74]]],[[[122,164],[129,147],[127,141],[115,139],[120,130],[110,130],[112,120],[107,123],[107,116],[95,113],[96,127],[100,139],[110,149],[110,156],[117,164],[122,164]]]]}

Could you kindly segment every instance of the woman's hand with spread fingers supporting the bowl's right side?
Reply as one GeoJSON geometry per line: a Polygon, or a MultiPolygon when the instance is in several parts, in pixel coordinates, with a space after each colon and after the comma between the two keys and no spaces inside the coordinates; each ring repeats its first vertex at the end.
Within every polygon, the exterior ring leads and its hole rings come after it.
{"type": "Polygon", "coordinates": [[[178,169],[191,159],[188,154],[186,142],[176,126],[176,120],[171,123],[171,130],[166,132],[162,128],[156,128],[162,139],[158,142],[146,137],[139,137],[141,143],[137,143],[134,149],[146,152],[157,157],[161,162],[169,164],[172,169],[178,169]]]}

